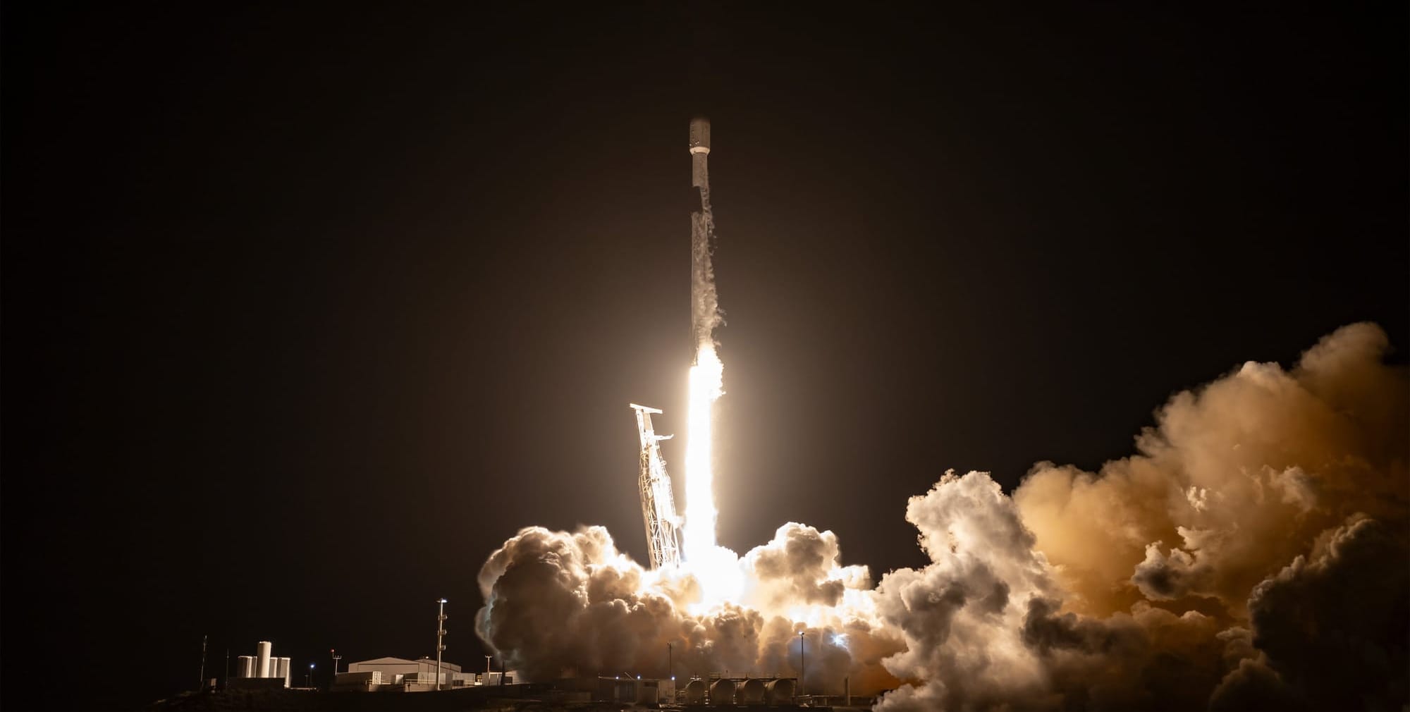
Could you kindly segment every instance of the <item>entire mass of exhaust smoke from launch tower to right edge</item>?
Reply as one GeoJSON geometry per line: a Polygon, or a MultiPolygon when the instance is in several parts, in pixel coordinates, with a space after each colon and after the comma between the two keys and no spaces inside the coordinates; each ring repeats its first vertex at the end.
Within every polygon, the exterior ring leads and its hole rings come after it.
{"type": "Polygon", "coordinates": [[[907,519],[931,563],[873,587],[838,537],[785,524],[698,610],[606,532],[526,529],[481,571],[481,634],[534,678],[797,674],[895,688],[883,711],[1402,709],[1410,630],[1410,381],[1354,324],[1293,369],[1173,396],[1136,454],[1036,465],[1005,496],[946,474],[907,519]]]}

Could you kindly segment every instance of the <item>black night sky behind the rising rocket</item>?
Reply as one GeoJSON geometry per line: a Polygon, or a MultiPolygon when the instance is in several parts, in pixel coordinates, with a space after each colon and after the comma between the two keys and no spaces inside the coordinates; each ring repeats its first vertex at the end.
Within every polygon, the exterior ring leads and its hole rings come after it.
{"type": "Polygon", "coordinates": [[[1382,10],[7,3],[4,706],[189,689],[203,634],[206,677],[434,656],[439,596],[477,668],[519,527],[644,561],[695,114],[740,551],[915,565],[949,468],[1096,468],[1352,321],[1410,347],[1382,10]]]}

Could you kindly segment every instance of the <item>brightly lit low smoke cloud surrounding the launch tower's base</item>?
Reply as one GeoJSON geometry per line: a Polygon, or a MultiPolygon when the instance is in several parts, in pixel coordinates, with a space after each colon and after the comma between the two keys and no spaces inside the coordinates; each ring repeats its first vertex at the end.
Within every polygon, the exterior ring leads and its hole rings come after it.
{"type": "Polygon", "coordinates": [[[791,677],[802,667],[804,632],[814,691],[840,692],[845,677],[873,689],[897,684],[881,658],[900,650],[898,639],[874,625],[866,567],[839,567],[832,532],[784,524],[739,568],[740,602],[692,612],[701,598],[694,574],[643,570],[602,527],[529,527],[481,570],[486,605],[477,630],[530,680],[664,675],[668,657],[685,675],[791,677]]]}

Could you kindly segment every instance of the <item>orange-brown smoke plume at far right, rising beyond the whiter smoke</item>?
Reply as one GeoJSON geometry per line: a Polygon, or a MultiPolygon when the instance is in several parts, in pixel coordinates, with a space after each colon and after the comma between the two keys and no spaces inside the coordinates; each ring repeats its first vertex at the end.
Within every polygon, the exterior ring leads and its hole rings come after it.
{"type": "Polygon", "coordinates": [[[1203,599],[1245,618],[1252,588],[1354,513],[1406,516],[1406,374],[1354,324],[1292,372],[1245,364],[1176,395],[1138,455],[1041,464],[1014,492],[1076,610],[1203,599]]]}

